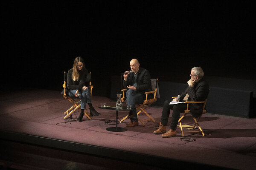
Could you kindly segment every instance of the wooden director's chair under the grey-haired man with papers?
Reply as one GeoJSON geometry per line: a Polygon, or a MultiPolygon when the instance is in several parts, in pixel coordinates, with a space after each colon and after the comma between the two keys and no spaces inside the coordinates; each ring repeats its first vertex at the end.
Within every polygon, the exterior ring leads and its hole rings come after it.
{"type": "MultiPolygon", "coordinates": [[[[172,98],[176,98],[176,97],[172,97],[172,98]]],[[[180,130],[181,130],[181,133],[182,133],[182,136],[183,136],[183,137],[184,137],[184,133],[199,133],[199,132],[201,132],[202,135],[204,136],[204,132],[203,132],[203,130],[202,130],[202,128],[201,128],[201,126],[199,125],[198,122],[199,122],[201,116],[206,113],[206,109],[205,109],[206,102],[207,102],[207,99],[205,99],[204,102],[185,102],[185,103],[187,104],[187,108],[186,108],[186,110],[184,111],[183,116],[181,116],[180,119],[179,119],[179,121],[178,121],[178,124],[180,124],[180,130]],[[192,113],[191,113],[190,110],[189,110],[189,103],[204,103],[203,112],[202,112],[201,116],[199,116],[198,118],[195,118],[195,117],[192,115],[192,113]],[[186,131],[184,131],[184,129],[183,129],[184,125],[183,125],[183,127],[182,127],[181,121],[182,121],[182,119],[184,119],[184,117],[186,117],[187,115],[191,115],[191,116],[192,116],[193,120],[195,121],[195,124],[194,124],[194,126],[191,128],[192,130],[189,130],[189,131],[186,130],[186,131]],[[196,125],[198,126],[199,130],[194,130],[195,127],[196,127],[196,125]]]]}

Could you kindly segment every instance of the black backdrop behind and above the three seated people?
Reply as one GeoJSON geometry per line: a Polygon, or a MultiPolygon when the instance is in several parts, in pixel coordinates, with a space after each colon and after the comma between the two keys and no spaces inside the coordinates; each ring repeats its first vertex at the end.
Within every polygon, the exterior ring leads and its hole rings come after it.
{"type": "Polygon", "coordinates": [[[81,56],[94,95],[110,96],[111,76],[132,58],[161,81],[190,70],[256,80],[255,3],[250,1],[6,1],[1,5],[1,90],[62,90],[81,56]]]}

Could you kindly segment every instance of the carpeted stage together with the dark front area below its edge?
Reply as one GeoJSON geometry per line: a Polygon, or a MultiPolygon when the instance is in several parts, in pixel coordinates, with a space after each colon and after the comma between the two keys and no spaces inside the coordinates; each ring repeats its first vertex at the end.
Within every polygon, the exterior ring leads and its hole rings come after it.
{"type": "MultiPolygon", "coordinates": [[[[153,134],[162,108],[147,110],[155,123],[110,132],[106,128],[115,127],[116,111],[98,107],[115,101],[105,97],[93,96],[101,115],[84,116],[82,122],[76,122],[79,111],[72,114],[75,121],[63,120],[72,105],[59,91],[32,89],[2,94],[0,100],[2,169],[256,169],[256,118],[207,113],[200,123],[206,136],[186,133],[195,139],[188,142],[180,139],[180,129],[173,138],[153,134]]],[[[119,119],[126,114],[119,112],[119,119]]],[[[192,125],[190,120],[185,124],[192,125]]]]}

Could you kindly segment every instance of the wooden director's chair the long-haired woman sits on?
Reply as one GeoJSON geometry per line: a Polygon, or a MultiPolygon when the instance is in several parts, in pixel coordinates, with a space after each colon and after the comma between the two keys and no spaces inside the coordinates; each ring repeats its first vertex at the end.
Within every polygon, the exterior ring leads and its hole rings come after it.
{"type": "MultiPolygon", "coordinates": [[[[71,117],[71,114],[81,107],[81,104],[80,104],[81,100],[77,102],[75,99],[73,99],[72,97],[67,95],[67,86],[66,86],[67,83],[66,83],[66,80],[67,80],[67,73],[64,71],[64,84],[62,85],[63,88],[64,88],[63,97],[73,104],[73,106],[71,108],[69,108],[67,111],[65,111],[63,113],[64,115],[66,115],[66,116],[64,116],[64,119],[66,119],[68,116],[71,117]]],[[[89,82],[90,96],[92,97],[93,85],[92,85],[92,82],[91,82],[91,73],[87,74],[86,82],[89,82]]],[[[84,115],[88,119],[91,119],[90,113],[87,113],[87,111],[85,109],[84,109],[84,115]]]]}

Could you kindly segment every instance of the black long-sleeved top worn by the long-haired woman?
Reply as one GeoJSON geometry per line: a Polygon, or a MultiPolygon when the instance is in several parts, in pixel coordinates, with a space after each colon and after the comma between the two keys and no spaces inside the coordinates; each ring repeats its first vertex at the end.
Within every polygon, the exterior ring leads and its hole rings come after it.
{"type": "Polygon", "coordinates": [[[85,82],[87,79],[88,71],[86,68],[83,68],[81,71],[78,71],[79,73],[79,80],[73,81],[72,74],[73,74],[73,68],[71,68],[67,72],[67,88],[69,90],[78,90],[79,92],[82,91],[82,87],[85,86],[85,82]]]}

